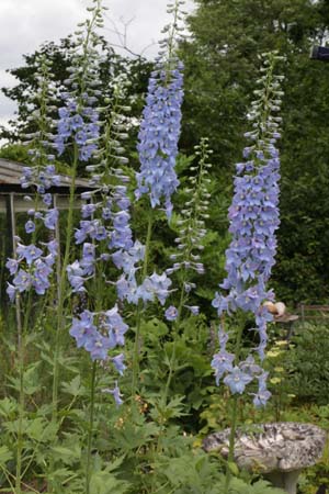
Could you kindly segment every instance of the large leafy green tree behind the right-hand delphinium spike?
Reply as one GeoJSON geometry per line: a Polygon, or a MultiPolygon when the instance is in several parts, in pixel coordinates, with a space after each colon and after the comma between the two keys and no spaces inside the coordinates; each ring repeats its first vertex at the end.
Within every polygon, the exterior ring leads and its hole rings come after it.
{"type": "MultiPolygon", "coordinates": [[[[185,63],[182,145],[208,135],[216,151],[214,204],[225,195],[225,177],[241,159],[242,135],[258,55],[285,55],[282,128],[282,195],[279,255],[273,283],[288,302],[329,299],[328,201],[329,67],[309,60],[313,43],[328,29],[328,1],[196,0],[185,63]]],[[[213,207],[212,220],[216,224],[213,207]]],[[[223,214],[222,216],[223,217],[223,214]]]]}

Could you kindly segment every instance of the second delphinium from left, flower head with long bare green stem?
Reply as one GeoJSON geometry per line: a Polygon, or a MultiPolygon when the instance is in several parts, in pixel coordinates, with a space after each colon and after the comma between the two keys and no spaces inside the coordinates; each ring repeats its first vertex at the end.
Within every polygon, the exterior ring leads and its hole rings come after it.
{"type": "Polygon", "coordinates": [[[66,325],[65,301],[67,297],[67,267],[70,260],[73,210],[76,194],[76,179],[79,164],[88,162],[98,148],[100,133],[99,114],[95,104],[100,96],[99,80],[99,52],[101,43],[97,29],[103,26],[101,0],[94,1],[89,8],[90,19],[81,23],[76,32],[76,43],[72,48],[72,65],[69,68],[70,76],[66,81],[68,90],[61,93],[63,106],[59,109],[58,133],[55,138],[55,147],[59,155],[66,149],[71,149],[73,160],[71,166],[71,182],[69,207],[66,225],[66,244],[61,262],[61,274],[58,290],[58,322],[54,358],[53,379],[53,418],[57,417],[58,384],[59,384],[59,357],[61,351],[61,335],[66,325]]]}

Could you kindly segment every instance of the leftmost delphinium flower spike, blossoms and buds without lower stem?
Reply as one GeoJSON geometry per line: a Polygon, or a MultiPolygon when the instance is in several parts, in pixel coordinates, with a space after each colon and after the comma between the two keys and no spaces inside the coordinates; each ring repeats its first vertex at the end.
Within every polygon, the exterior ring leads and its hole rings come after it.
{"type": "Polygon", "coordinates": [[[34,290],[38,295],[46,292],[50,287],[58,249],[57,240],[54,238],[58,211],[49,193],[50,187],[60,182],[54,166],[53,121],[49,116],[55,88],[52,83],[50,61],[45,56],[41,56],[37,61],[39,67],[36,72],[37,90],[33,96],[34,111],[29,117],[29,124],[35,132],[23,136],[33,165],[24,167],[21,177],[22,189],[31,191],[30,195],[25,197],[31,202],[27,211],[29,220],[25,223],[25,232],[31,235],[31,244],[24,245],[18,239],[16,259],[9,259],[7,262],[7,268],[13,276],[7,289],[11,301],[14,301],[18,293],[22,294],[30,290],[34,290]],[[37,243],[36,229],[39,229],[39,226],[48,233],[44,242],[41,238],[37,243]]]}

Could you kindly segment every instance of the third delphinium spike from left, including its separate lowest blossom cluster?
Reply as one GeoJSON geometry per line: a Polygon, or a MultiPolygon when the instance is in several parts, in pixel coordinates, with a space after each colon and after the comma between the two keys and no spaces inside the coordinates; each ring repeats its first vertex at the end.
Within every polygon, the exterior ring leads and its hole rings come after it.
{"type": "MultiPolygon", "coordinates": [[[[110,88],[112,98],[106,99],[105,105],[98,109],[104,126],[94,154],[94,164],[87,166],[90,190],[81,195],[82,220],[75,233],[76,244],[82,247],[82,257],[67,267],[72,292],[87,292],[89,304],[95,307],[93,312],[82,311],[73,318],[70,335],[78,347],[83,347],[90,353],[92,360],[111,361],[120,374],[125,369],[124,355],[110,357],[109,351],[124,345],[128,326],[124,323],[117,304],[110,310],[102,307],[103,297],[100,293],[93,293],[92,285],[98,277],[106,282],[105,268],[115,254],[117,257],[124,256],[124,252],[134,247],[129,226],[128,177],[123,169],[128,159],[124,156],[121,143],[125,137],[124,112],[129,111],[126,82],[123,76],[113,79],[110,88]]],[[[117,263],[114,262],[114,266],[117,263]]],[[[117,386],[116,389],[118,390],[117,386]]],[[[113,395],[118,403],[116,397],[120,394],[113,392],[113,395]]]]}

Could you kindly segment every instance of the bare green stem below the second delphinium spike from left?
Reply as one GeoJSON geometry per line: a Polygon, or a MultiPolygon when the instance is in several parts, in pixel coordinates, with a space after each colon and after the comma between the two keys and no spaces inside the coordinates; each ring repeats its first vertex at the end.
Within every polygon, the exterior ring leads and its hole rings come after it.
{"type": "MultiPolygon", "coordinates": [[[[79,149],[75,145],[75,157],[72,166],[72,176],[70,184],[70,197],[69,197],[69,209],[67,216],[66,226],[66,244],[65,244],[65,255],[61,263],[61,273],[59,280],[58,289],[58,305],[57,305],[57,329],[55,339],[55,350],[54,350],[54,378],[53,378],[53,422],[57,420],[58,411],[58,385],[59,385],[59,361],[61,352],[61,334],[65,328],[65,314],[64,314],[64,303],[66,299],[66,268],[69,263],[71,242],[72,242],[72,229],[73,229],[73,211],[75,211],[75,192],[76,192],[76,178],[79,160],[79,149]]],[[[59,247],[58,247],[59,248],[59,247]]],[[[59,254],[58,254],[59,255],[59,254]]]]}

